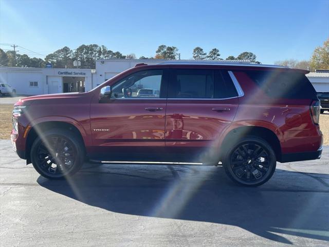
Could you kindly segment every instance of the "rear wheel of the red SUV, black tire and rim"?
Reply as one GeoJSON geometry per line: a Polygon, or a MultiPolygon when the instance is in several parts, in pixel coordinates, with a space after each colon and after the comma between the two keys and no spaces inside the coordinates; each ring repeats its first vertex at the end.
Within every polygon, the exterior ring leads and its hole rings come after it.
{"type": "Polygon", "coordinates": [[[262,138],[248,136],[228,148],[223,166],[228,177],[243,186],[259,186],[273,175],[276,154],[262,138]]]}

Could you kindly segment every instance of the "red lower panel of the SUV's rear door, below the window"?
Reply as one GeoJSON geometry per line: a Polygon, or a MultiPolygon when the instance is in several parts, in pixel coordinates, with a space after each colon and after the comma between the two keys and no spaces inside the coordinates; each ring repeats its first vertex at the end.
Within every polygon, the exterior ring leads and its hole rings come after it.
{"type": "Polygon", "coordinates": [[[168,99],[166,113],[166,146],[218,146],[218,139],[231,125],[239,101],[168,99]],[[227,108],[217,112],[213,108],[227,108]]]}

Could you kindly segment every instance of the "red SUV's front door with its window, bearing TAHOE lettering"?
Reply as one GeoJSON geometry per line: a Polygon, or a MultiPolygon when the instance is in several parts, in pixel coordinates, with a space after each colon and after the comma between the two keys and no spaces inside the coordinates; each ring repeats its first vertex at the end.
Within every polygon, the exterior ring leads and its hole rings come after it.
{"type": "MultiPolygon", "coordinates": [[[[112,85],[107,102],[92,103],[90,121],[97,156],[133,152],[152,155],[152,147],[165,147],[166,79],[163,69],[142,70],[112,85]],[[140,92],[152,92],[148,95],[140,92]],[[146,153],[150,150],[150,153],[146,153]]],[[[92,151],[93,152],[93,151],[92,151]]],[[[96,152],[96,151],[95,151],[96,152]]]]}

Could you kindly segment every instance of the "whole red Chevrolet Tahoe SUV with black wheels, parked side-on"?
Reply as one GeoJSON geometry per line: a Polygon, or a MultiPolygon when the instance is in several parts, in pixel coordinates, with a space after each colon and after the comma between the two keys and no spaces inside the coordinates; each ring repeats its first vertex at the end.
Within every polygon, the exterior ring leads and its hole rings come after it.
{"type": "Polygon", "coordinates": [[[233,181],[257,186],[277,161],[321,156],[320,102],[307,73],[239,63],[137,64],[87,93],[20,100],[11,139],[50,179],[72,175],[86,158],[221,162],[233,181]]]}

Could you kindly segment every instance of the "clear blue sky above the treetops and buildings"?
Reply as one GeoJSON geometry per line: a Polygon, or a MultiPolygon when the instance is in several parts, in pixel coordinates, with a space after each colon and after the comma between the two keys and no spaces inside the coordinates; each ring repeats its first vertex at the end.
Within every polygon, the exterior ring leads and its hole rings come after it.
{"type": "Polygon", "coordinates": [[[165,44],[176,46],[182,59],[200,46],[218,48],[223,59],[251,51],[260,62],[273,63],[309,59],[328,37],[329,0],[0,0],[0,48],[16,44],[41,55],[98,44],[150,57],[165,44]]]}

